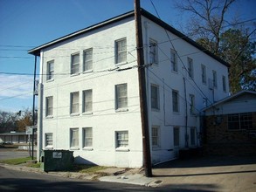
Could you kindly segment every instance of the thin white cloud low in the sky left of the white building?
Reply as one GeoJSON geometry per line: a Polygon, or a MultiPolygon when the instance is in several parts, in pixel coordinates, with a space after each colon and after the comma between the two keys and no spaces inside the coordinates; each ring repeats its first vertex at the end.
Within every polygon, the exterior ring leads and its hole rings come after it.
{"type": "Polygon", "coordinates": [[[0,74],[0,99],[27,99],[33,93],[33,76],[0,74]]]}

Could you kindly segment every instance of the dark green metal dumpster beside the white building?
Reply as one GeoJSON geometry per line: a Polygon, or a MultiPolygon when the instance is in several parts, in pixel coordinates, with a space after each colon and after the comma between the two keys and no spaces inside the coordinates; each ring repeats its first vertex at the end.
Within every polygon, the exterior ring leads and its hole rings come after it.
{"type": "Polygon", "coordinates": [[[73,168],[73,151],[42,150],[41,168],[47,171],[64,171],[73,168]]]}

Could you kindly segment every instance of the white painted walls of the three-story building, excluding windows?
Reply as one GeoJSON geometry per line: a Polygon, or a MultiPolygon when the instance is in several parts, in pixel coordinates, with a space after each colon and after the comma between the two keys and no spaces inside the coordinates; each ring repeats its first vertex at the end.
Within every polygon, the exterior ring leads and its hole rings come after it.
{"type": "MultiPolygon", "coordinates": [[[[143,40],[145,51],[145,63],[149,61],[149,38],[158,42],[158,65],[147,68],[148,107],[149,107],[149,132],[151,126],[160,127],[160,147],[151,151],[152,162],[157,163],[176,158],[178,148],[190,146],[190,127],[197,127],[199,133],[199,111],[204,107],[203,98],[212,101],[212,93],[207,85],[201,83],[201,64],[207,68],[207,76],[211,71],[218,72],[218,88],[215,90],[215,99],[222,99],[227,93],[222,91],[222,75],[227,76],[227,68],[215,59],[199,51],[197,48],[171,34],[170,39],[176,51],[187,66],[187,55],[194,61],[195,83],[188,78],[182,62],[178,60],[178,72],[171,72],[170,49],[173,49],[163,28],[154,24],[149,19],[142,17],[142,23],[149,23],[147,30],[143,27],[143,40]],[[196,53],[195,53],[196,52],[196,53]],[[191,54],[195,53],[195,54],[191,54]],[[187,127],[185,124],[185,93],[186,84],[187,99],[189,94],[196,98],[197,113],[188,113],[187,127]],[[150,85],[156,84],[160,90],[160,110],[152,111],[150,105],[150,85]],[[172,89],[179,91],[179,113],[172,112],[172,89]],[[205,95],[202,95],[203,92],[205,95]],[[165,110],[163,110],[165,108],[165,110]],[[180,127],[180,146],[174,147],[173,128],[180,127]],[[185,135],[188,137],[186,146],[185,135]]],[[[127,18],[115,24],[104,26],[96,31],[82,34],[66,40],[57,45],[46,48],[41,52],[41,72],[46,74],[46,63],[54,59],[55,77],[53,81],[46,81],[42,75],[40,82],[44,86],[44,92],[40,92],[43,107],[42,119],[38,120],[41,130],[42,148],[45,148],[45,133],[53,134],[54,149],[70,149],[70,128],[78,127],[80,130],[80,147],[74,150],[74,156],[79,163],[93,162],[105,166],[117,167],[142,167],[142,127],[139,105],[139,86],[137,69],[132,68],[122,72],[110,71],[117,67],[114,65],[114,41],[127,38],[128,64],[118,65],[121,69],[133,67],[136,64],[135,50],[135,22],[133,18],[127,18]],[[71,54],[80,52],[80,64],[82,63],[82,51],[93,47],[93,72],[81,72],[77,76],[71,76],[71,54]],[[114,86],[122,83],[128,84],[128,112],[115,112],[114,110],[114,86]],[[93,114],[82,113],[82,91],[93,89],[93,114]],[[80,113],[70,115],[70,93],[80,92],[80,113]],[[45,118],[45,98],[53,96],[53,117],[45,118]],[[93,150],[82,148],[82,128],[93,127],[93,150]],[[115,131],[128,130],[129,151],[116,151],[115,131]]],[[[80,69],[82,71],[82,69],[80,69]]],[[[207,79],[208,79],[207,77],[207,79]]],[[[188,105],[189,110],[189,105],[188,105]]],[[[39,115],[40,117],[40,115],[39,115]]],[[[197,137],[196,137],[197,140],[197,137]]],[[[197,145],[196,145],[197,146],[197,145]]]]}

